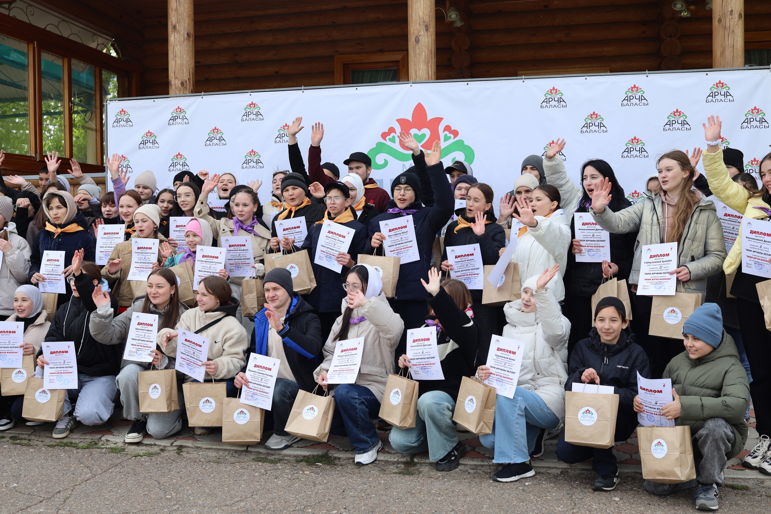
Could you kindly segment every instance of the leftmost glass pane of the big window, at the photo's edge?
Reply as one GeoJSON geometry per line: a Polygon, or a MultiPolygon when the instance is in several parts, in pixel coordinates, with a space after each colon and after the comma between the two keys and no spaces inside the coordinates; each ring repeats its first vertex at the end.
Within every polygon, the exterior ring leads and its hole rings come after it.
{"type": "Polygon", "coordinates": [[[0,148],[29,155],[27,44],[0,35],[0,148]]]}

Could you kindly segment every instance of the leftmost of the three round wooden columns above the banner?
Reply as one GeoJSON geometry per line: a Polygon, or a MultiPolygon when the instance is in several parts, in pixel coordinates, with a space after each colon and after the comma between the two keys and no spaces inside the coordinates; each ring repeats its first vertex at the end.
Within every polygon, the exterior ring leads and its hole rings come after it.
{"type": "Polygon", "coordinates": [[[193,0],[169,2],[169,94],[195,92],[193,0]]]}

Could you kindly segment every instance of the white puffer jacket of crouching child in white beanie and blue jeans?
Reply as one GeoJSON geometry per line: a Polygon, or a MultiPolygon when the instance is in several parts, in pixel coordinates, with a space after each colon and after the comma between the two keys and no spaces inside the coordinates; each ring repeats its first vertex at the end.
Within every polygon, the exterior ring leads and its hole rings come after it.
{"type": "MultiPolygon", "coordinates": [[[[531,288],[535,287],[533,279],[528,282],[531,288]]],[[[562,284],[562,279],[559,283],[562,284]]],[[[525,282],[523,287],[526,287],[525,282]]],[[[525,343],[517,385],[540,396],[562,424],[565,419],[567,338],[571,333],[571,322],[562,315],[550,287],[551,283],[544,291],[534,293],[535,312],[522,312],[521,300],[510,301],[503,306],[507,321],[503,337],[525,343]]]]}

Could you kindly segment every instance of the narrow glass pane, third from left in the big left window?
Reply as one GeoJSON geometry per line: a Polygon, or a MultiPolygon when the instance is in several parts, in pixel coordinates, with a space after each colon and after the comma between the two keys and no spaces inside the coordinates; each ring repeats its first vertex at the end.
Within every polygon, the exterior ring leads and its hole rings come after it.
{"type": "Polygon", "coordinates": [[[96,85],[93,66],[72,59],[72,158],[96,164],[96,85]]]}

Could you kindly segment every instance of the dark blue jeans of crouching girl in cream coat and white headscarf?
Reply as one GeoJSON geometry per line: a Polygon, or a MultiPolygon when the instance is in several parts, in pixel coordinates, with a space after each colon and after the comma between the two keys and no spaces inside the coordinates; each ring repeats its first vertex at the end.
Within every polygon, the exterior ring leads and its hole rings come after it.
{"type": "Polygon", "coordinates": [[[380,438],[372,418],[380,415],[380,400],[369,388],[356,384],[340,384],[335,388],[335,415],[329,432],[347,435],[355,453],[369,452],[380,438]]]}

